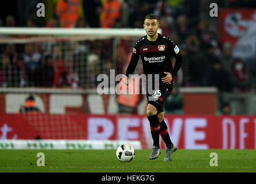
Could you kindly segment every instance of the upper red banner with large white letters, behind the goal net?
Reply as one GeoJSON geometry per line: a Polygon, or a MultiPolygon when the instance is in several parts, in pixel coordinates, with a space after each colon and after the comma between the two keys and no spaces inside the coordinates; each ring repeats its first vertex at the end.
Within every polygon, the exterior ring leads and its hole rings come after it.
{"type": "MultiPolygon", "coordinates": [[[[40,89],[31,89],[31,91],[40,89]]],[[[44,89],[47,90],[47,89],[44,89]]],[[[42,90],[43,91],[43,90],[42,90]]],[[[45,114],[117,114],[118,104],[116,95],[109,94],[61,94],[58,89],[55,93],[37,93],[35,104],[45,114]],[[58,93],[56,93],[58,92],[58,93]]],[[[183,111],[185,114],[214,114],[217,109],[216,92],[183,93],[186,102],[183,111]]],[[[0,113],[16,114],[24,106],[28,93],[0,93],[0,113]]],[[[137,114],[145,114],[146,97],[138,104],[137,114]]]]}

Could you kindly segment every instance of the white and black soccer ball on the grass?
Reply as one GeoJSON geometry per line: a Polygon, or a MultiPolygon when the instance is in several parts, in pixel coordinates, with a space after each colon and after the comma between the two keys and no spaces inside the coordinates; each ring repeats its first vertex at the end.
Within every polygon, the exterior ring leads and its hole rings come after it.
{"type": "Polygon", "coordinates": [[[121,162],[131,162],[134,159],[135,151],[130,144],[122,144],[116,149],[116,157],[121,162]]]}

